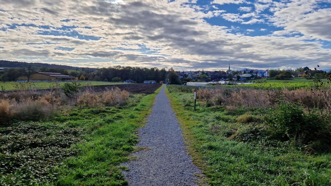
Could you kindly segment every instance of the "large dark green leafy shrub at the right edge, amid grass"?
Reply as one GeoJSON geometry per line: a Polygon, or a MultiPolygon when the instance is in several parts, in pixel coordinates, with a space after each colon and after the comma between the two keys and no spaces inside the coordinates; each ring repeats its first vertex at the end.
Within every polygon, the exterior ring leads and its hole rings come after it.
{"type": "Polygon", "coordinates": [[[278,108],[270,109],[265,120],[271,128],[272,138],[294,139],[301,144],[317,140],[330,143],[329,120],[323,119],[315,113],[305,113],[300,102],[280,102],[278,108]]]}

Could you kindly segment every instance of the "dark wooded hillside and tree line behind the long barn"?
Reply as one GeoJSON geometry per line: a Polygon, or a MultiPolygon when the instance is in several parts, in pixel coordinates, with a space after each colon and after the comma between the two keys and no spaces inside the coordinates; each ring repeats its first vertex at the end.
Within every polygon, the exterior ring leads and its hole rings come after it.
{"type": "Polygon", "coordinates": [[[18,76],[34,72],[54,72],[71,75],[90,81],[125,81],[132,80],[142,83],[145,80],[162,81],[166,77],[165,69],[139,68],[114,66],[108,68],[73,67],[67,65],[55,65],[47,63],[27,63],[18,61],[0,60],[0,68],[6,68],[0,72],[0,81],[15,81],[18,76]]]}

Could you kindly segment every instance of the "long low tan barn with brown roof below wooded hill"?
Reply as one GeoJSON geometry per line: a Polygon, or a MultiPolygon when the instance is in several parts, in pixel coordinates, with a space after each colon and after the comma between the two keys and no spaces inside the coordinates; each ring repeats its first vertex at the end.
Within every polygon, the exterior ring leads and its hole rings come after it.
{"type": "Polygon", "coordinates": [[[71,81],[75,80],[75,77],[60,73],[36,72],[30,75],[19,76],[16,78],[17,81],[27,81],[28,79],[29,81],[71,81]]]}

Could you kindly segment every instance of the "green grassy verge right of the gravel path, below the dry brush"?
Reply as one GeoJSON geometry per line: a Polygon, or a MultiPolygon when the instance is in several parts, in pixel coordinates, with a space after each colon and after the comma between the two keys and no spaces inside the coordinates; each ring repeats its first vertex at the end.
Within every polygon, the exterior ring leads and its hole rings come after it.
{"type": "MultiPolygon", "coordinates": [[[[210,185],[331,185],[331,154],[305,154],[288,142],[267,146],[241,142],[236,133],[249,125],[245,116],[263,110],[206,107],[193,94],[166,90],[194,163],[210,185]],[[240,119],[239,119],[240,118],[240,119]]],[[[255,123],[250,124],[254,126],[255,123]]],[[[245,135],[243,135],[245,136],[245,135]]],[[[246,136],[249,138],[250,136],[246,136]]],[[[261,139],[262,140],[262,139],[261,139]]]]}

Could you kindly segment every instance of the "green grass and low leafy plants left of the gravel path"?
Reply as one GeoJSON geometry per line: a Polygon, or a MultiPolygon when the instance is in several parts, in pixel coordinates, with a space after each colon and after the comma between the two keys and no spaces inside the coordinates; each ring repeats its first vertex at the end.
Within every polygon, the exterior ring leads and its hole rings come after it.
{"type": "MultiPolygon", "coordinates": [[[[161,88],[160,88],[161,89],[161,88]]],[[[48,121],[0,129],[0,185],[123,185],[121,163],[135,150],[154,94],[115,107],[68,110],[48,121]]]]}

